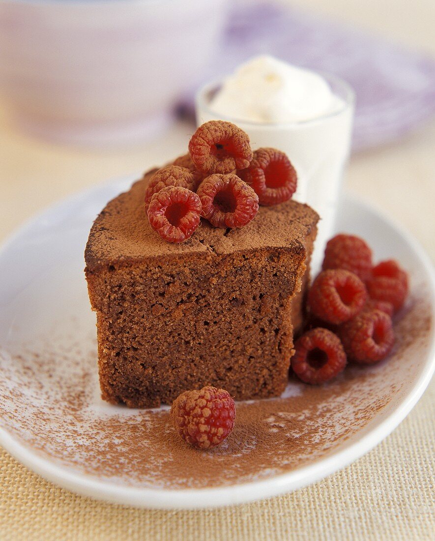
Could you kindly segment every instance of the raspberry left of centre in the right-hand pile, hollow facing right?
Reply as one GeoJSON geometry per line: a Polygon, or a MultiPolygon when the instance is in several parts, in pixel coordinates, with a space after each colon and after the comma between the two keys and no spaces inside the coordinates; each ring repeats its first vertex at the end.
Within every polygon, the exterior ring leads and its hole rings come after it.
{"type": "Polygon", "coordinates": [[[327,269],[314,280],[308,293],[311,312],[318,318],[339,325],[363,308],[367,290],[356,274],[343,269],[327,269]]]}

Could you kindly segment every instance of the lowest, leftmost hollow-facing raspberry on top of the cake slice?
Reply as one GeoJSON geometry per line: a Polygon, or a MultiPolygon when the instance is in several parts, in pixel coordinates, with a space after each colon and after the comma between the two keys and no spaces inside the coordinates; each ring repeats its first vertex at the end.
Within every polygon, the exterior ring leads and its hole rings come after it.
{"type": "Polygon", "coordinates": [[[183,242],[198,227],[200,213],[201,202],[195,193],[181,186],[168,186],[151,197],[148,220],[165,241],[183,242]]]}

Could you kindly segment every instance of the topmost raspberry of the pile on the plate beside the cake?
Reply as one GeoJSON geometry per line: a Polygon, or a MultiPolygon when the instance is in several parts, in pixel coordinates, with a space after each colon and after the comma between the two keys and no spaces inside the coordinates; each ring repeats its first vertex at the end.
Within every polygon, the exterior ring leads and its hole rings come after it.
{"type": "Polygon", "coordinates": [[[365,282],[372,270],[372,250],[357,236],[336,235],[326,245],[322,268],[345,269],[365,282]]]}

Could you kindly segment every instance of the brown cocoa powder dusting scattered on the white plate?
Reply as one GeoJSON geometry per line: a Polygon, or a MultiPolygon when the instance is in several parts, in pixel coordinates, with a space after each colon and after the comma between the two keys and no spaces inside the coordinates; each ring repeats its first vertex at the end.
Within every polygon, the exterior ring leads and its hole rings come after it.
{"type": "Polygon", "coordinates": [[[78,342],[44,339],[29,351],[0,351],[3,428],[51,461],[129,486],[200,488],[265,479],[358,441],[359,431],[406,389],[429,351],[431,331],[431,308],[421,296],[399,316],[389,359],[350,365],[322,386],[291,377],[281,398],[237,403],[233,433],[209,451],[179,439],[169,408],[103,403],[92,334],[78,342]]]}

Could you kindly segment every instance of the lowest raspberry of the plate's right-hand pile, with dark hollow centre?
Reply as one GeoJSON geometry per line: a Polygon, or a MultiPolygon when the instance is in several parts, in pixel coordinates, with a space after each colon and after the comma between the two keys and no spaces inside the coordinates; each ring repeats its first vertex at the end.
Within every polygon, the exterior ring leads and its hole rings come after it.
{"type": "Polygon", "coordinates": [[[336,377],[346,366],[342,342],[322,327],[306,332],[295,344],[291,367],[305,383],[324,383],[336,377]]]}

